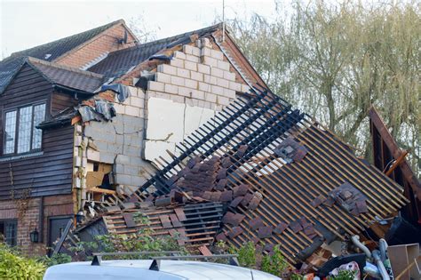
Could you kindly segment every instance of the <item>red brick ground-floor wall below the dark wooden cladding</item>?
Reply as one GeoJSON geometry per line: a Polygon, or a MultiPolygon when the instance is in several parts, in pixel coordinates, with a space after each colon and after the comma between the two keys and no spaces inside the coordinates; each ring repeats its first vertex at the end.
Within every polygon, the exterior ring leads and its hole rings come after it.
{"type": "MultiPolygon", "coordinates": [[[[17,202],[0,202],[0,220],[18,220],[17,244],[23,252],[29,255],[44,255],[48,238],[48,218],[54,216],[73,215],[73,200],[71,195],[64,196],[44,196],[44,232],[43,243],[34,244],[30,242],[29,233],[35,228],[39,228],[39,211],[41,197],[28,200],[28,208],[23,213],[17,209],[17,202]]],[[[40,232],[41,234],[41,232],[40,232]]]]}

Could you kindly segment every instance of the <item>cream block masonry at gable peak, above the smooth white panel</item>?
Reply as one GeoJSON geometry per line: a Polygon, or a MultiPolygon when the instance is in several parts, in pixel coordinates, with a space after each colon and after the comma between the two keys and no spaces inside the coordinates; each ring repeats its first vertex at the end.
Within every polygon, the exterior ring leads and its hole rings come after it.
{"type": "Polygon", "coordinates": [[[159,93],[161,98],[175,101],[171,95],[185,98],[182,103],[219,110],[235,99],[235,91],[248,91],[248,86],[235,82],[235,73],[223,52],[212,49],[209,39],[196,45],[183,45],[182,51],[174,52],[169,64],[156,68],[155,81],[148,83],[147,90],[159,93]],[[188,100],[188,101],[187,101],[188,100]],[[199,105],[198,100],[202,101],[199,105]]]}

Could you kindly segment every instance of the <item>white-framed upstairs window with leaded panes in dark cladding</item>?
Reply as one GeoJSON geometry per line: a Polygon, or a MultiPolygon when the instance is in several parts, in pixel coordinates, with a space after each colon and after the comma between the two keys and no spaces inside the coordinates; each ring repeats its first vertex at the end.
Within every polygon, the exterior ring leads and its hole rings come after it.
{"type": "Polygon", "coordinates": [[[23,154],[41,148],[43,132],[36,128],[45,119],[45,104],[36,104],[4,114],[4,155],[23,154]]]}

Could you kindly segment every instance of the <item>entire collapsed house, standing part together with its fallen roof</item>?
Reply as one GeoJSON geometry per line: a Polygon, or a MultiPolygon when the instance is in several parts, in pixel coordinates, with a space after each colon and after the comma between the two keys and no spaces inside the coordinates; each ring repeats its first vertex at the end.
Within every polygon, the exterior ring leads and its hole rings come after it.
{"type": "Polygon", "coordinates": [[[379,122],[373,143],[390,151],[372,166],[266,90],[222,32],[139,44],[119,20],[2,61],[6,242],[60,252],[137,234],[141,215],[203,254],[252,241],[317,266],[335,240],[384,237],[402,207],[419,219],[419,181],[379,122]]]}

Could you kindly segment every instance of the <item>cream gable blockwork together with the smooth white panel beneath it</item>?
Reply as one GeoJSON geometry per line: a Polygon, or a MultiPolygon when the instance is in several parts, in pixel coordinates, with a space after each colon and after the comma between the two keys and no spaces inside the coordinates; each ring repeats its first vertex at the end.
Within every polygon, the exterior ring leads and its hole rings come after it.
{"type": "Polygon", "coordinates": [[[234,100],[236,92],[249,91],[236,82],[234,67],[216,48],[203,38],[156,68],[147,87],[147,160],[170,159],[166,150],[177,154],[177,143],[234,100]]]}

